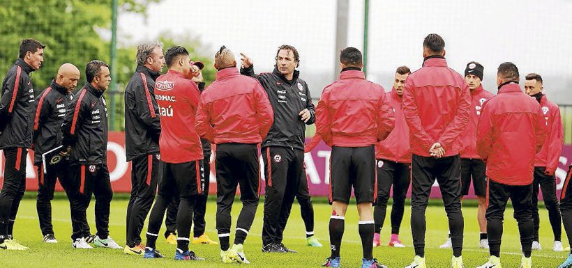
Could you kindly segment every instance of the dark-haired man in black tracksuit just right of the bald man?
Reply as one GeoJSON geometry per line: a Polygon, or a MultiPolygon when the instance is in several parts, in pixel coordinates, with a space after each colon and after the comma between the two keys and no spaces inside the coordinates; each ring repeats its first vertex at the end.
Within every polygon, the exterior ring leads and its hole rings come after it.
{"type": "Polygon", "coordinates": [[[103,98],[103,92],[111,81],[109,65],[103,61],[90,61],[85,75],[86,84],[75,93],[61,126],[62,155],[69,155],[64,178],[70,199],[72,246],[75,249],[92,249],[85,237],[91,237],[86,210],[91,194],[94,194],[97,234],[93,244],[123,249],[109,236],[113,191],[107,168],[107,107],[103,98]]]}

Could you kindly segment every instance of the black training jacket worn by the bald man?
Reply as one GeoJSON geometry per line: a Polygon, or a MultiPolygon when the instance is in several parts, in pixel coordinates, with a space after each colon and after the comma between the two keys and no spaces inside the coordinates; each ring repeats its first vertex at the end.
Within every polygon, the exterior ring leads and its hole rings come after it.
{"type": "Polygon", "coordinates": [[[73,98],[56,81],[36,97],[33,113],[34,163],[42,161],[42,154],[56,148],[61,143],[61,123],[73,98]]]}

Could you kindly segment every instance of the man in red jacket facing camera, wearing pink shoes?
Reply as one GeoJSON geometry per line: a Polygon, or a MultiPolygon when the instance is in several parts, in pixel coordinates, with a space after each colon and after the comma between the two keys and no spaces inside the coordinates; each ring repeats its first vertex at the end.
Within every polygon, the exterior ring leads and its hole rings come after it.
{"type": "Polygon", "coordinates": [[[393,206],[391,207],[391,239],[389,246],[403,248],[399,240],[399,228],[405,210],[405,194],[411,183],[411,148],[409,147],[409,128],[405,123],[405,117],[401,111],[403,88],[405,79],[411,74],[407,66],[401,66],[396,70],[396,78],[393,81],[391,92],[385,93],[396,115],[396,127],[391,134],[379,141],[376,147],[375,159],[377,159],[377,203],[373,211],[375,221],[375,235],[373,245],[379,246],[379,233],[385,221],[385,212],[389,191],[393,185],[393,206]]]}

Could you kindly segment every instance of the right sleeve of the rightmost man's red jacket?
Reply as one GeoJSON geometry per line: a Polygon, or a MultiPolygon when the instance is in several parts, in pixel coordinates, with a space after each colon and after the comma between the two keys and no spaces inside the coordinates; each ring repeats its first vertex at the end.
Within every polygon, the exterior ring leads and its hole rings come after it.
{"type": "Polygon", "coordinates": [[[562,118],[560,118],[560,109],[556,105],[550,109],[552,117],[552,130],[550,131],[550,143],[548,143],[548,159],[546,159],[546,171],[554,174],[558,167],[562,146],[564,145],[564,127],[562,127],[562,118]]]}

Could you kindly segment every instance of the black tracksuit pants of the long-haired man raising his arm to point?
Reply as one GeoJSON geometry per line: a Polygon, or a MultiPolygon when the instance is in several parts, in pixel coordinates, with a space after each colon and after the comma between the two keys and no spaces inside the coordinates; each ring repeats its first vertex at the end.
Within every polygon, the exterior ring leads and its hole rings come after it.
{"type": "Polygon", "coordinates": [[[279,146],[262,149],[266,173],[262,245],[280,244],[298,191],[304,152],[279,146]]]}

